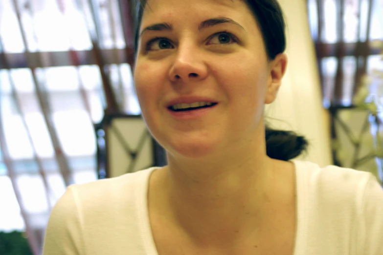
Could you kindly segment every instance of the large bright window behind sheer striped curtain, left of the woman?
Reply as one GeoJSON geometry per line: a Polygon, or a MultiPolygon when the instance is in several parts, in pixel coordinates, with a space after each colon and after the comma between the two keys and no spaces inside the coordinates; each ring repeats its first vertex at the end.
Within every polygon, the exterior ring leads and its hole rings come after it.
{"type": "Polygon", "coordinates": [[[75,183],[97,178],[93,124],[103,118],[105,95],[92,39],[123,111],[140,109],[118,0],[16,2],[20,20],[13,0],[0,1],[0,54],[7,60],[0,63],[0,207],[7,208],[0,210],[0,231],[44,233],[66,189],[55,155],[63,154],[75,183]]]}

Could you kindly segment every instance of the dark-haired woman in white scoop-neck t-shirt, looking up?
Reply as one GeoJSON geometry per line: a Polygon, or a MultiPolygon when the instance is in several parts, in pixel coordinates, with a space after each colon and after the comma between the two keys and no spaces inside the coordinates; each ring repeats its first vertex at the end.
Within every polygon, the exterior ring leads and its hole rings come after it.
{"type": "Polygon", "coordinates": [[[289,161],[305,140],[265,133],[287,65],[278,3],[136,7],[135,89],[168,165],[69,187],[44,254],[382,255],[376,179],[289,161]]]}

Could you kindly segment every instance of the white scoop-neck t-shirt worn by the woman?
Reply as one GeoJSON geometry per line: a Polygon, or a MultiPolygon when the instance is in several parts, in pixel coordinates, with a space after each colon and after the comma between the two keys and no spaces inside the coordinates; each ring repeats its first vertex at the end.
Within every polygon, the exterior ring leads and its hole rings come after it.
{"type": "MultiPolygon", "coordinates": [[[[370,173],[306,161],[296,170],[294,255],[383,255],[383,189],[370,173]]],[[[158,255],[147,208],[156,168],[72,185],[55,205],[44,255],[158,255]]]]}

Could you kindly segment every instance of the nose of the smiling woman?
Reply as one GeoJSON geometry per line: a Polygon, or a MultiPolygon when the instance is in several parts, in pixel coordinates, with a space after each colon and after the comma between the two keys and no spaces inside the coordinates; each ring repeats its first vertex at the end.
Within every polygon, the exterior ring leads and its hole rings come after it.
{"type": "Polygon", "coordinates": [[[198,49],[192,46],[178,49],[174,63],[169,70],[169,79],[172,82],[199,81],[207,76],[207,66],[198,49]]]}

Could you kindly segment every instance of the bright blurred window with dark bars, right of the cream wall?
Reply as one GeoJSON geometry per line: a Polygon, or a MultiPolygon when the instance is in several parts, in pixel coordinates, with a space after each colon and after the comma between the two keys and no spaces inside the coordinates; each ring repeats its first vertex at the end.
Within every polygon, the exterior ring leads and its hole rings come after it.
{"type": "Polygon", "coordinates": [[[323,105],[351,106],[361,74],[381,66],[376,60],[381,51],[377,42],[383,42],[383,2],[308,0],[308,13],[321,68],[323,105]]]}

